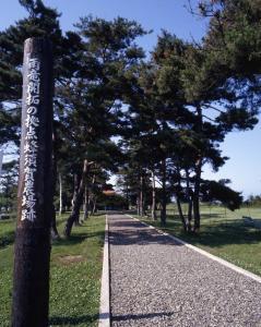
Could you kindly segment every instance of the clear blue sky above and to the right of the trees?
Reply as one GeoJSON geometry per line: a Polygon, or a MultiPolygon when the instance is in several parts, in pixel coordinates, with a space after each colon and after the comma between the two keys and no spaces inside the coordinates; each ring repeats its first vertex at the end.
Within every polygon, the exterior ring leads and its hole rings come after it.
{"type": "MultiPolygon", "coordinates": [[[[192,17],[185,8],[186,0],[44,0],[44,3],[57,8],[62,13],[60,22],[63,31],[72,29],[80,16],[88,14],[106,20],[117,16],[135,20],[145,29],[153,29],[152,34],[139,39],[139,44],[147,53],[155,46],[161,29],[167,29],[187,40],[201,39],[206,29],[206,22],[192,17]]],[[[19,5],[17,0],[2,0],[0,29],[7,28],[25,15],[26,12],[19,5]]],[[[253,131],[229,134],[222,149],[230,159],[215,174],[206,167],[204,177],[230,179],[232,186],[245,195],[261,194],[260,144],[261,123],[253,131]]]]}

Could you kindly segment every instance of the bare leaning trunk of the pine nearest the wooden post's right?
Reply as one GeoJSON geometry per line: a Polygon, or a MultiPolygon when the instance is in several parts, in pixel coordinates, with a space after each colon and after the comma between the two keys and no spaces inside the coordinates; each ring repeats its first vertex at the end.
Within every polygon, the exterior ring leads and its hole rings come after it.
{"type": "Polygon", "coordinates": [[[75,221],[79,221],[80,209],[81,209],[81,206],[83,203],[83,193],[84,193],[84,187],[85,187],[86,175],[88,172],[88,167],[90,167],[90,164],[85,159],[84,164],[83,164],[82,179],[81,179],[78,192],[75,193],[75,197],[74,197],[73,205],[72,205],[72,213],[71,213],[71,216],[68,218],[66,227],[64,227],[64,237],[67,237],[67,238],[69,238],[71,234],[73,223],[75,221]]]}

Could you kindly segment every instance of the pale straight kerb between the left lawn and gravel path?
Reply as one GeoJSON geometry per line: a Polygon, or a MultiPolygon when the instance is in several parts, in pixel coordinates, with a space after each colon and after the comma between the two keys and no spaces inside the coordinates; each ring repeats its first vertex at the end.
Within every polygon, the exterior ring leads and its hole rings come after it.
{"type": "Polygon", "coordinates": [[[98,327],[110,327],[110,291],[109,291],[109,229],[108,216],[106,215],[104,237],[104,259],[99,298],[98,327]]]}

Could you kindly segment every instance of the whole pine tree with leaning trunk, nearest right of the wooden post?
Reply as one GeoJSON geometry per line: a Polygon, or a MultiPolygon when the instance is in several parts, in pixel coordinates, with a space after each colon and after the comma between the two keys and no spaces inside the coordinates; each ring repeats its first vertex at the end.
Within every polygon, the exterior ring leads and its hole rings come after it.
{"type": "Polygon", "coordinates": [[[120,17],[107,22],[88,16],[76,26],[82,37],[79,68],[71,83],[60,87],[60,94],[64,99],[61,100],[64,124],[70,131],[67,135],[70,155],[73,152],[84,168],[75,205],[64,228],[67,237],[79,219],[91,166],[114,170],[120,156],[110,138],[120,133],[121,104],[131,90],[129,72],[143,57],[134,39],[144,34],[139,24],[120,17]]]}

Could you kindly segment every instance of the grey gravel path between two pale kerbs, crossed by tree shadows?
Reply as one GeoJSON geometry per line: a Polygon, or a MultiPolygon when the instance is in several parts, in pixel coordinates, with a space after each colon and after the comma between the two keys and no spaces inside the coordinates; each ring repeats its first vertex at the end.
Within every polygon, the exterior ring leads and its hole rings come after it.
{"type": "Polygon", "coordinates": [[[260,326],[261,283],[109,216],[111,326],[260,326]]]}

